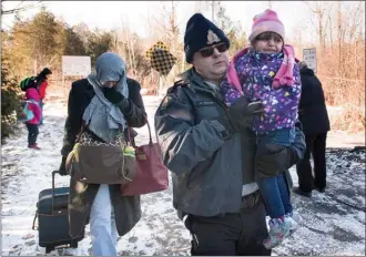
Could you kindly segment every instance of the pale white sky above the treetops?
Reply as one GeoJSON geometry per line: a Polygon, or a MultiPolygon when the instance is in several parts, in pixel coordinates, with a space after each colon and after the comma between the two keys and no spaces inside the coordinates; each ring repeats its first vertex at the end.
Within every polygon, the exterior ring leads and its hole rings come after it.
{"type": "MultiPolygon", "coordinates": [[[[31,1],[29,1],[31,2],[31,1]]],[[[252,19],[255,14],[264,11],[270,1],[222,1],[226,8],[226,14],[233,20],[238,21],[245,31],[251,30],[252,19]]],[[[312,28],[311,12],[302,1],[271,1],[272,8],[277,11],[283,21],[288,37],[293,35],[294,28],[304,27],[306,41],[313,41],[309,28],[312,28]],[[307,32],[306,32],[307,31],[307,32]]],[[[159,16],[162,9],[161,1],[43,1],[47,9],[57,17],[62,17],[70,25],[80,22],[87,23],[90,28],[111,29],[121,27],[122,20],[129,22],[129,27],[141,37],[149,33],[148,17],[159,16]]],[[[171,7],[171,1],[165,1],[165,6],[171,7]]],[[[4,10],[19,4],[19,1],[3,2],[4,10]]],[[[28,1],[26,3],[28,4],[28,1]]],[[[202,2],[211,4],[211,1],[202,2]]],[[[189,18],[195,12],[195,7],[200,6],[196,1],[174,1],[177,10],[177,21],[181,31],[185,30],[189,18]]],[[[38,10],[29,10],[22,17],[32,17],[38,10]]],[[[204,12],[211,19],[211,9],[204,12]]],[[[7,16],[2,20],[2,25],[12,25],[12,16],[7,16]]]]}

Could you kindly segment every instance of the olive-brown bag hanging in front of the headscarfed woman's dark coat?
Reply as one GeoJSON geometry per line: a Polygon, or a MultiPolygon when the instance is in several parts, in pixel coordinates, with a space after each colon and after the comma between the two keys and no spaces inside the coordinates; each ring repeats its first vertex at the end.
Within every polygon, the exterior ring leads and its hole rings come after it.
{"type": "Polygon", "coordinates": [[[95,141],[85,124],[69,153],[65,169],[75,181],[87,184],[124,184],[135,174],[134,148],[123,138],[122,128],[114,142],[95,141]]]}

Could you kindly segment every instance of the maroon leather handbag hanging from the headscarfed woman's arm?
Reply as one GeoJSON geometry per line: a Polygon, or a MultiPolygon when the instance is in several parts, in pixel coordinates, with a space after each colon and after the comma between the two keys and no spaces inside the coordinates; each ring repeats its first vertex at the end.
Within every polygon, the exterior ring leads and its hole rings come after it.
{"type": "Polygon", "coordinates": [[[163,164],[161,148],[157,143],[152,142],[148,120],[146,124],[150,136],[149,144],[136,146],[132,141],[132,146],[135,150],[136,169],[132,182],[121,185],[121,194],[124,196],[150,194],[169,187],[167,168],[163,164]]]}

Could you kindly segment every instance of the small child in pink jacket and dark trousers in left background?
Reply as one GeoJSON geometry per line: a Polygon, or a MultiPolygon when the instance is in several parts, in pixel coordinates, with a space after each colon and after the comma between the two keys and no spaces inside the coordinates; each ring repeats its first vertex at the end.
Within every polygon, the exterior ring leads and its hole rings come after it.
{"type": "Polygon", "coordinates": [[[29,101],[28,109],[33,112],[34,117],[26,122],[28,128],[28,147],[33,150],[40,150],[37,144],[38,125],[41,120],[41,107],[39,105],[40,95],[37,89],[28,89],[26,91],[26,101],[29,101]]]}

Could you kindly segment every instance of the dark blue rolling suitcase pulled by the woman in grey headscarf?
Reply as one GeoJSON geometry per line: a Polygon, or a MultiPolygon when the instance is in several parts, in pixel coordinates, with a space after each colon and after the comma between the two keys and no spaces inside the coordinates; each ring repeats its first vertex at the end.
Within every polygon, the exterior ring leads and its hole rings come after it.
{"type": "Polygon", "coordinates": [[[78,247],[78,241],[84,238],[84,234],[78,237],[69,235],[68,198],[70,187],[54,187],[52,172],[52,188],[41,191],[37,203],[37,213],[33,220],[33,229],[38,229],[39,245],[45,247],[45,254],[58,246],[78,247]],[[35,220],[38,218],[38,226],[35,220]]]}

